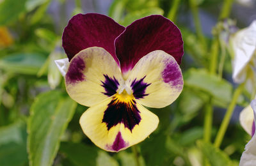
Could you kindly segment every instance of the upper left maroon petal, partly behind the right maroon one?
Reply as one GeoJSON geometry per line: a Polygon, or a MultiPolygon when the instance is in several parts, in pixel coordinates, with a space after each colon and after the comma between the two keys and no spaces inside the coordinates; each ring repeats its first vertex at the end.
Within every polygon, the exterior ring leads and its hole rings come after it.
{"type": "Polygon", "coordinates": [[[78,52],[88,47],[102,47],[107,50],[119,64],[115,55],[115,38],[124,31],[113,19],[106,15],[88,13],[72,17],[65,27],[62,46],[69,61],[78,52]]]}

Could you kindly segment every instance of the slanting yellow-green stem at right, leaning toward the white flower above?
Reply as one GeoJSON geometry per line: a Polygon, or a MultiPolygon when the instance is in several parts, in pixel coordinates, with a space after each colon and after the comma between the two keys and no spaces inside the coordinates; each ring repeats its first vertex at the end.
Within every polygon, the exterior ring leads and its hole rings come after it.
{"type": "Polygon", "coordinates": [[[220,130],[217,133],[217,136],[216,136],[216,139],[215,139],[215,142],[214,142],[215,147],[220,147],[220,145],[221,145],[221,142],[222,142],[223,137],[224,137],[224,135],[226,133],[226,130],[227,130],[228,123],[230,122],[230,118],[231,118],[232,113],[234,111],[234,108],[236,106],[237,99],[239,98],[240,94],[243,91],[243,87],[244,87],[244,83],[240,84],[239,87],[237,87],[237,89],[234,92],[234,96],[233,96],[233,98],[230,102],[230,105],[228,106],[225,117],[224,117],[224,119],[221,123],[220,130]]]}

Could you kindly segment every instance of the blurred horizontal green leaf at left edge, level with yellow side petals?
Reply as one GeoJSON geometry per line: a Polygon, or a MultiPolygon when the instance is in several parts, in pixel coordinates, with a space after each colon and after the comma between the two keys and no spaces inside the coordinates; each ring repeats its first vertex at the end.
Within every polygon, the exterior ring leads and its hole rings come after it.
{"type": "Polygon", "coordinates": [[[44,64],[45,59],[40,54],[10,54],[1,57],[0,69],[6,72],[35,75],[44,64]]]}

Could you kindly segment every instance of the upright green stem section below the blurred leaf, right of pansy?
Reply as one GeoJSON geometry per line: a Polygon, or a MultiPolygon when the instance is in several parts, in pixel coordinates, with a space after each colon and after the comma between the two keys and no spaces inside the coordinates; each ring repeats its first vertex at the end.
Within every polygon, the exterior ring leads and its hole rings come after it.
{"type": "Polygon", "coordinates": [[[209,98],[209,103],[205,105],[205,117],[204,117],[204,141],[211,142],[212,131],[212,98],[209,98]]]}

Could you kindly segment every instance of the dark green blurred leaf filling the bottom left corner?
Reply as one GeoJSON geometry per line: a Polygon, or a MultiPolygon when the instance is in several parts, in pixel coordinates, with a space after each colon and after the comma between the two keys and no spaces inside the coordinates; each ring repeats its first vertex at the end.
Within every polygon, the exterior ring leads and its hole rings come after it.
{"type": "Polygon", "coordinates": [[[0,165],[16,166],[28,163],[26,124],[17,121],[0,128],[0,165]]]}

